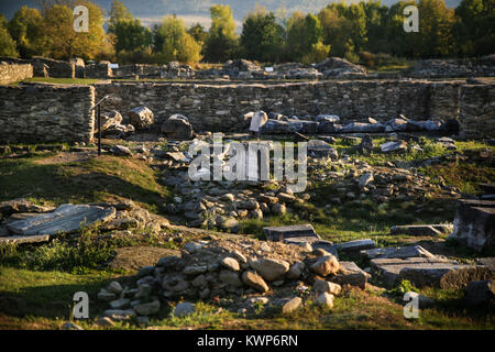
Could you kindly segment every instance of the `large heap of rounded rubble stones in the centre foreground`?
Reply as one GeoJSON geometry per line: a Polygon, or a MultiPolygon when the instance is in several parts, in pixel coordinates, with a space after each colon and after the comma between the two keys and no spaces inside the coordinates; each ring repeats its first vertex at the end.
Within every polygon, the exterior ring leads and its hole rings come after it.
{"type": "MultiPolygon", "coordinates": [[[[105,316],[113,320],[154,315],[164,298],[180,297],[207,300],[237,296],[249,305],[267,302],[265,296],[273,296],[271,302],[288,314],[304,304],[302,298],[331,308],[342,285],[364,287],[367,277],[354,263],[339,262],[321,249],[312,251],[241,237],[213,238],[188,242],[182,255],[165,256],[155,266],[143,267],[134,285],[122,287],[111,283],[100,290],[98,299],[109,301],[110,309],[105,316]]],[[[241,302],[241,310],[242,306],[241,302]]],[[[180,317],[193,311],[193,304],[183,302],[174,315],[180,317]]]]}

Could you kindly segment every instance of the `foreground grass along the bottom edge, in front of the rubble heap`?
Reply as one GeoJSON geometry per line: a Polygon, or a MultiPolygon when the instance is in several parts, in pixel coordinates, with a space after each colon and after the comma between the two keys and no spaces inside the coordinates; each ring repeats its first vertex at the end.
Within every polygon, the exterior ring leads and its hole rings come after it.
{"type": "MultiPolygon", "coordinates": [[[[98,290],[116,275],[91,272],[74,275],[52,272],[32,272],[19,268],[0,267],[0,328],[57,329],[69,317],[73,296],[76,292],[87,292],[90,297],[90,318],[77,320],[85,329],[101,329],[95,320],[106,305],[95,300],[98,290]]],[[[383,294],[371,290],[344,290],[336,298],[332,309],[312,306],[311,299],[290,314],[280,309],[258,309],[252,314],[239,314],[227,309],[226,304],[197,301],[196,311],[187,317],[170,315],[174,305],[163,304],[148,326],[156,329],[493,329],[494,316],[490,311],[465,311],[455,305],[459,295],[449,292],[430,296],[438,299],[435,309],[420,311],[418,320],[403,316],[403,302],[391,300],[383,294]],[[468,314],[468,315],[466,315],[468,314]]],[[[146,326],[135,321],[118,322],[110,329],[143,329],[146,326]]]]}

